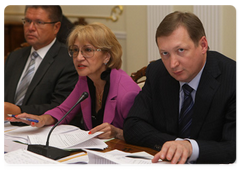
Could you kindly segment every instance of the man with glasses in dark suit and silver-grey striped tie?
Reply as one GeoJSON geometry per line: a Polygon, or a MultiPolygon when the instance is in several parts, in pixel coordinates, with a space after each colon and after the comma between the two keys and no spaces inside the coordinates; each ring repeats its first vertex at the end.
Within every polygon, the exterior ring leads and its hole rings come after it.
{"type": "Polygon", "coordinates": [[[78,75],[67,47],[56,39],[61,18],[58,4],[26,5],[24,36],[31,46],[10,53],[6,60],[2,72],[2,120],[7,114],[22,112],[41,115],[61,104],[73,90],[78,75]]]}

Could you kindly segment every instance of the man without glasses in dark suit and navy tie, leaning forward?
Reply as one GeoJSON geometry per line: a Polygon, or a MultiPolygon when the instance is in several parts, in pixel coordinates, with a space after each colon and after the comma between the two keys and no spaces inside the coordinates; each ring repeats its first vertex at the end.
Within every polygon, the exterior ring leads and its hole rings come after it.
{"type": "Polygon", "coordinates": [[[152,162],[236,163],[236,62],[208,51],[203,25],[191,13],[166,16],[156,42],[161,59],[147,67],[124,123],[126,142],[159,150],[152,162]]]}

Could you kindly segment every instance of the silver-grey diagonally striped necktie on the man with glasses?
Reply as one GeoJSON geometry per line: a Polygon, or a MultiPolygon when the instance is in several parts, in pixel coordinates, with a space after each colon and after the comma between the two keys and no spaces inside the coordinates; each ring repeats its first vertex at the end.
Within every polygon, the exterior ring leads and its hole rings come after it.
{"type": "Polygon", "coordinates": [[[15,95],[15,104],[21,106],[25,94],[27,92],[28,86],[33,78],[34,68],[35,68],[35,59],[38,57],[38,53],[34,51],[31,55],[31,61],[26,69],[25,75],[23,76],[21,83],[17,89],[15,95]]]}

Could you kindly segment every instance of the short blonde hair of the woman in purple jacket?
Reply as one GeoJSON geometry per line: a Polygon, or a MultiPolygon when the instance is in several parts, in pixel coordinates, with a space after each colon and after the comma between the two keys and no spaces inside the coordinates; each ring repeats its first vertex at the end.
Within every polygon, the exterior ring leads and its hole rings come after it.
{"type": "Polygon", "coordinates": [[[107,67],[120,69],[122,65],[122,47],[113,32],[102,23],[76,26],[68,37],[68,46],[75,41],[90,43],[94,47],[108,52],[111,55],[107,67]]]}

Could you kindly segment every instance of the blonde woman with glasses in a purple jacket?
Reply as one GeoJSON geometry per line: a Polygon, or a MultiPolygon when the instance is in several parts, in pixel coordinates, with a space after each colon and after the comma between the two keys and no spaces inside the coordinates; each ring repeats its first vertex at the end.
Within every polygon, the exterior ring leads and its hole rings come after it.
{"type": "Polygon", "coordinates": [[[77,125],[90,133],[104,132],[99,138],[124,140],[123,122],[140,88],[120,69],[122,48],[117,38],[105,25],[94,23],[75,27],[68,37],[68,45],[79,74],[72,93],[60,106],[44,115],[18,115],[18,118],[37,119],[39,123],[14,118],[10,121],[22,121],[36,127],[55,124],[86,91],[89,97],[61,123],[77,125]]]}

